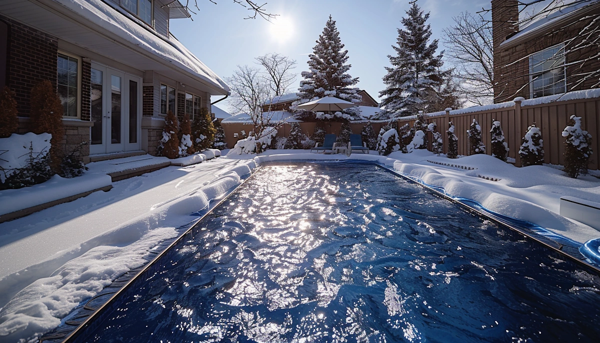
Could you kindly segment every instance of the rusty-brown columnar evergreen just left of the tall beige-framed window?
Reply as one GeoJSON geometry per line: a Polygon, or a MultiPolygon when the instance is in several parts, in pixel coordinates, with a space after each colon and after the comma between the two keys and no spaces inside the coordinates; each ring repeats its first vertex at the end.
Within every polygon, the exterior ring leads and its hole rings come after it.
{"type": "Polygon", "coordinates": [[[60,147],[64,129],[62,127],[63,107],[56,88],[49,80],[43,80],[31,88],[31,122],[35,134],[52,134],[50,139],[50,166],[59,173],[62,162],[60,147]]]}

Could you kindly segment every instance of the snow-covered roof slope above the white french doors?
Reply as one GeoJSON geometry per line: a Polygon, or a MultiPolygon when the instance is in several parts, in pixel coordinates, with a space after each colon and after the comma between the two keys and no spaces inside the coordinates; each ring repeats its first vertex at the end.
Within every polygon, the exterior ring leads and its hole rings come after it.
{"type": "Polygon", "coordinates": [[[144,28],[136,18],[121,8],[114,8],[102,0],[54,0],[75,16],[81,17],[88,26],[108,30],[135,50],[160,58],[164,65],[173,66],[190,73],[212,88],[229,92],[229,86],[173,35],[169,39],[144,28]]]}

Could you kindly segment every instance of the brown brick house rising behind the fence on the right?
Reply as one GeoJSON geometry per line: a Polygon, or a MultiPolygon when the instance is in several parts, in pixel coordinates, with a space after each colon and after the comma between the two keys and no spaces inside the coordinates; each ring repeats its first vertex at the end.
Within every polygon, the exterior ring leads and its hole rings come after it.
{"type": "Polygon", "coordinates": [[[532,20],[519,19],[519,4],[491,1],[494,103],[598,88],[600,1],[560,1],[532,20]]]}

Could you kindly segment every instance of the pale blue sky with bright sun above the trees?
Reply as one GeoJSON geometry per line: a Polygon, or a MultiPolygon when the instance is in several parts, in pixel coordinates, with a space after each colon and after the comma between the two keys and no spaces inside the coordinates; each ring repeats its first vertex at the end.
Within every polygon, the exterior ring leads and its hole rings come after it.
{"type": "MultiPolygon", "coordinates": [[[[171,20],[170,31],[219,76],[229,77],[236,65],[251,65],[256,56],[269,52],[296,59],[298,74],[307,70],[308,54],[331,14],[348,50],[350,75],[359,77],[358,87],[376,99],[385,87],[384,67],[389,66],[387,56],[394,53],[391,46],[402,25],[400,19],[410,7],[409,0],[269,0],[265,8],[280,14],[272,24],[260,18],[244,19],[250,11],[230,0],[217,0],[217,5],[197,1],[200,12],[194,20],[171,20]]],[[[490,8],[490,0],[418,0],[417,4],[431,13],[432,38],[441,38],[443,28],[452,25],[452,17],[462,11],[490,8]]],[[[441,40],[439,45],[443,49],[441,40]]],[[[298,75],[293,91],[300,80],[298,75]]],[[[224,103],[219,106],[227,109],[224,103]]]]}

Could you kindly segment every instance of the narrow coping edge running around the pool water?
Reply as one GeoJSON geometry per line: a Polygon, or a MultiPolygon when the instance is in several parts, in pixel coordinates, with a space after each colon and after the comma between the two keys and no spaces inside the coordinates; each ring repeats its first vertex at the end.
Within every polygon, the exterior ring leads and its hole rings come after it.
{"type": "MultiPolygon", "coordinates": [[[[454,198],[451,197],[449,194],[447,194],[447,192],[445,191],[445,189],[443,187],[440,186],[434,186],[434,185],[428,185],[427,183],[423,182],[419,177],[416,176],[411,176],[411,175],[406,175],[403,173],[400,173],[397,170],[394,170],[393,168],[390,168],[389,166],[387,166],[386,164],[381,163],[380,161],[367,161],[367,160],[278,160],[278,161],[264,161],[263,163],[260,163],[254,170],[252,170],[249,174],[248,177],[246,177],[245,179],[242,180],[242,182],[240,182],[238,185],[236,185],[235,187],[233,187],[232,189],[230,189],[229,194],[225,195],[223,198],[221,198],[217,203],[214,204],[214,206],[209,207],[209,209],[206,211],[206,213],[203,213],[200,218],[194,219],[193,221],[190,221],[190,223],[184,225],[187,226],[189,225],[189,227],[183,232],[181,233],[178,237],[176,237],[175,240],[173,240],[173,242],[171,242],[168,246],[166,246],[166,248],[164,248],[161,252],[159,252],[154,258],[152,258],[152,260],[150,260],[148,263],[146,263],[142,268],[139,269],[139,271],[137,273],[135,273],[135,275],[133,275],[127,282],[125,282],[124,285],[121,286],[121,288],[119,288],[115,293],[112,293],[112,296],[110,296],[110,298],[108,300],[106,300],[106,302],[104,302],[100,307],[98,307],[97,309],[94,310],[94,312],[92,312],[91,314],[88,315],[87,318],[85,318],[85,320],[82,321],[82,323],[80,323],[77,327],[75,327],[75,329],[73,329],[72,332],[70,332],[67,336],[65,336],[65,338],[61,341],[62,343],[67,343],[72,341],[73,339],[77,338],[77,336],[80,334],[80,332],[82,332],[83,329],[85,329],[86,327],[89,326],[89,324],[91,324],[92,321],[94,321],[95,317],[101,312],[103,311],[104,308],[106,308],[108,305],[110,305],[112,302],[114,302],[121,293],[123,293],[130,284],[132,284],[134,281],[137,280],[137,278],[142,275],[146,270],[148,270],[152,264],[154,264],[156,261],[158,261],[164,254],[166,254],[176,243],[178,243],[180,240],[182,240],[191,230],[193,230],[194,227],[196,227],[196,225],[202,221],[206,216],[208,216],[209,214],[212,213],[212,210],[214,210],[216,207],[220,206],[221,203],[223,203],[224,201],[226,201],[229,197],[231,197],[233,194],[236,194],[236,191],[238,191],[238,189],[240,188],[240,186],[244,185],[246,182],[248,182],[248,180],[252,179],[254,177],[254,175],[256,175],[257,171],[259,171],[260,169],[262,169],[265,166],[268,165],[272,165],[272,164],[281,164],[281,163],[314,163],[314,164],[335,164],[335,163],[347,163],[347,164],[370,164],[373,166],[377,166],[382,168],[383,170],[386,170],[392,174],[395,174],[398,177],[401,177],[409,182],[412,183],[416,183],[419,186],[422,186],[423,188],[427,189],[428,191],[433,192],[434,195],[437,195],[438,197],[442,197],[445,200],[449,200],[452,203],[458,204],[458,206],[462,207],[463,209],[467,210],[468,212],[471,213],[476,213],[479,216],[483,216],[484,218],[495,222],[496,224],[501,224],[504,225],[506,227],[508,227],[509,229],[511,229],[512,231],[515,231],[521,235],[523,235],[524,237],[526,237],[527,239],[532,239],[533,241],[545,246],[546,248],[551,249],[551,251],[556,252],[557,254],[563,255],[565,258],[568,258],[569,260],[573,261],[574,263],[580,263],[583,264],[583,266],[593,269],[595,270],[596,273],[598,273],[598,275],[600,275],[600,267],[595,266],[594,264],[589,263],[588,261],[586,261],[586,256],[584,256],[583,254],[580,253],[579,256],[575,256],[575,255],[571,255],[566,251],[563,251],[562,248],[564,245],[562,245],[562,243],[556,242],[553,239],[550,239],[548,237],[560,237],[560,239],[565,240],[565,242],[570,242],[570,243],[575,243],[574,245],[577,245],[577,247],[575,246],[571,246],[572,248],[577,249],[578,247],[583,246],[581,243],[576,242],[575,240],[569,239],[568,237],[564,237],[561,236],[559,234],[553,233],[543,227],[540,227],[539,225],[533,224],[531,222],[527,222],[527,221],[523,221],[521,219],[516,219],[516,218],[512,218],[510,216],[506,216],[506,215],[502,215],[501,213],[496,213],[494,211],[491,211],[487,208],[485,208],[484,206],[482,206],[481,204],[479,204],[477,201],[474,200],[470,200],[467,198],[454,198]],[[473,204],[477,204],[478,207],[481,207],[481,209],[478,209],[477,207],[473,207],[471,205],[469,205],[468,203],[464,203],[460,200],[463,201],[467,201],[473,204]],[[484,209],[484,210],[482,210],[484,209]],[[498,216],[500,215],[500,216],[498,216]],[[529,225],[531,225],[532,227],[537,227],[541,230],[544,231],[544,233],[548,233],[548,236],[544,236],[544,234],[541,234],[539,232],[533,231],[534,234],[538,234],[539,236],[545,237],[548,240],[550,240],[550,242],[554,242],[557,243],[559,246],[553,246],[550,243],[539,239],[538,237],[533,236],[533,234],[528,233],[526,230],[515,227],[514,225],[512,225],[509,222],[506,222],[505,220],[502,219],[503,217],[506,218],[511,218],[514,221],[520,221],[523,223],[527,223],[529,225]]],[[[199,213],[199,212],[196,212],[199,213]]],[[[114,281],[113,281],[114,282],[114,281]]],[[[109,286],[110,287],[110,286],[109,286]]],[[[40,338],[40,342],[43,342],[44,339],[43,337],[40,338]]]]}

